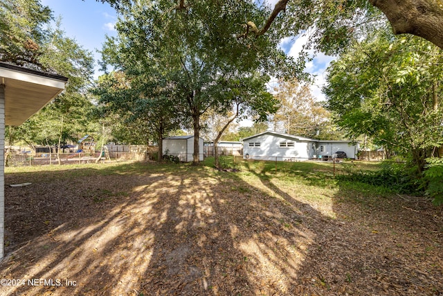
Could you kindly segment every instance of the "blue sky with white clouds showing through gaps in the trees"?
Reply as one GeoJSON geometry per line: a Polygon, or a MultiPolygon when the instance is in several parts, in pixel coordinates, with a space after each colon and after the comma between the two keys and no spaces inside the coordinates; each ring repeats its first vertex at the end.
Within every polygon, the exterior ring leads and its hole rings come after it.
{"type": "MultiPolygon", "coordinates": [[[[278,0],[269,0],[273,6],[278,0]]],[[[116,31],[114,24],[117,20],[116,12],[109,4],[96,0],[42,0],[44,6],[49,6],[53,10],[54,17],[62,17],[62,28],[68,37],[77,40],[84,49],[91,51],[96,59],[96,72],[94,78],[102,74],[99,71],[97,60],[105,42],[105,35],[114,36],[116,31]]],[[[307,42],[307,35],[300,35],[282,40],[280,46],[287,55],[297,58],[302,46],[307,42]]],[[[314,53],[310,52],[313,56],[314,53]]],[[[311,93],[318,101],[324,101],[325,96],[321,93],[321,88],[325,84],[325,69],[333,57],[317,53],[314,60],[307,63],[306,71],[316,78],[311,87],[311,93]]]]}

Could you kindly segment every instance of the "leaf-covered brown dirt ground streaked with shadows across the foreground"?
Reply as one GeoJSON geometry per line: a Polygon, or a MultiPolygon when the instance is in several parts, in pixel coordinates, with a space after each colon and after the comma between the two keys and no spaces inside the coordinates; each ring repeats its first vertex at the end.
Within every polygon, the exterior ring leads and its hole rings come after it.
{"type": "Polygon", "coordinates": [[[152,166],[7,174],[0,295],[443,295],[441,207],[152,166]]]}

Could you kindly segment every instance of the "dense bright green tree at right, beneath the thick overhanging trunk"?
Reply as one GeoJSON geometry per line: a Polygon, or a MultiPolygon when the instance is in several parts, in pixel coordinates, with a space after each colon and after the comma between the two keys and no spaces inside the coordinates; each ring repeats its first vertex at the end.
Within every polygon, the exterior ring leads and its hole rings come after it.
{"type": "Polygon", "coordinates": [[[421,172],[443,143],[442,62],[430,42],[379,31],[328,69],[329,109],[350,136],[410,156],[421,172]]]}

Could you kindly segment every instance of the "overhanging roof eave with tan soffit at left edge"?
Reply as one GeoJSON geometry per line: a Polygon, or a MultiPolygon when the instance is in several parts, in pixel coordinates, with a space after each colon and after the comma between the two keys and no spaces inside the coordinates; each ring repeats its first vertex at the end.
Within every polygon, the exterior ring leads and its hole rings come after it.
{"type": "Polygon", "coordinates": [[[0,62],[5,124],[20,125],[63,91],[68,78],[0,62]]]}

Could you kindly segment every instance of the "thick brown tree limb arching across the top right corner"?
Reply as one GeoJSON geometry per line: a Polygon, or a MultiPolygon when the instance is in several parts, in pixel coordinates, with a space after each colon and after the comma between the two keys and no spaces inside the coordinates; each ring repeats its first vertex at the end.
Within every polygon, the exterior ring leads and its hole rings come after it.
{"type": "Polygon", "coordinates": [[[423,37],[443,49],[441,0],[369,0],[388,17],[394,34],[423,37]]]}

